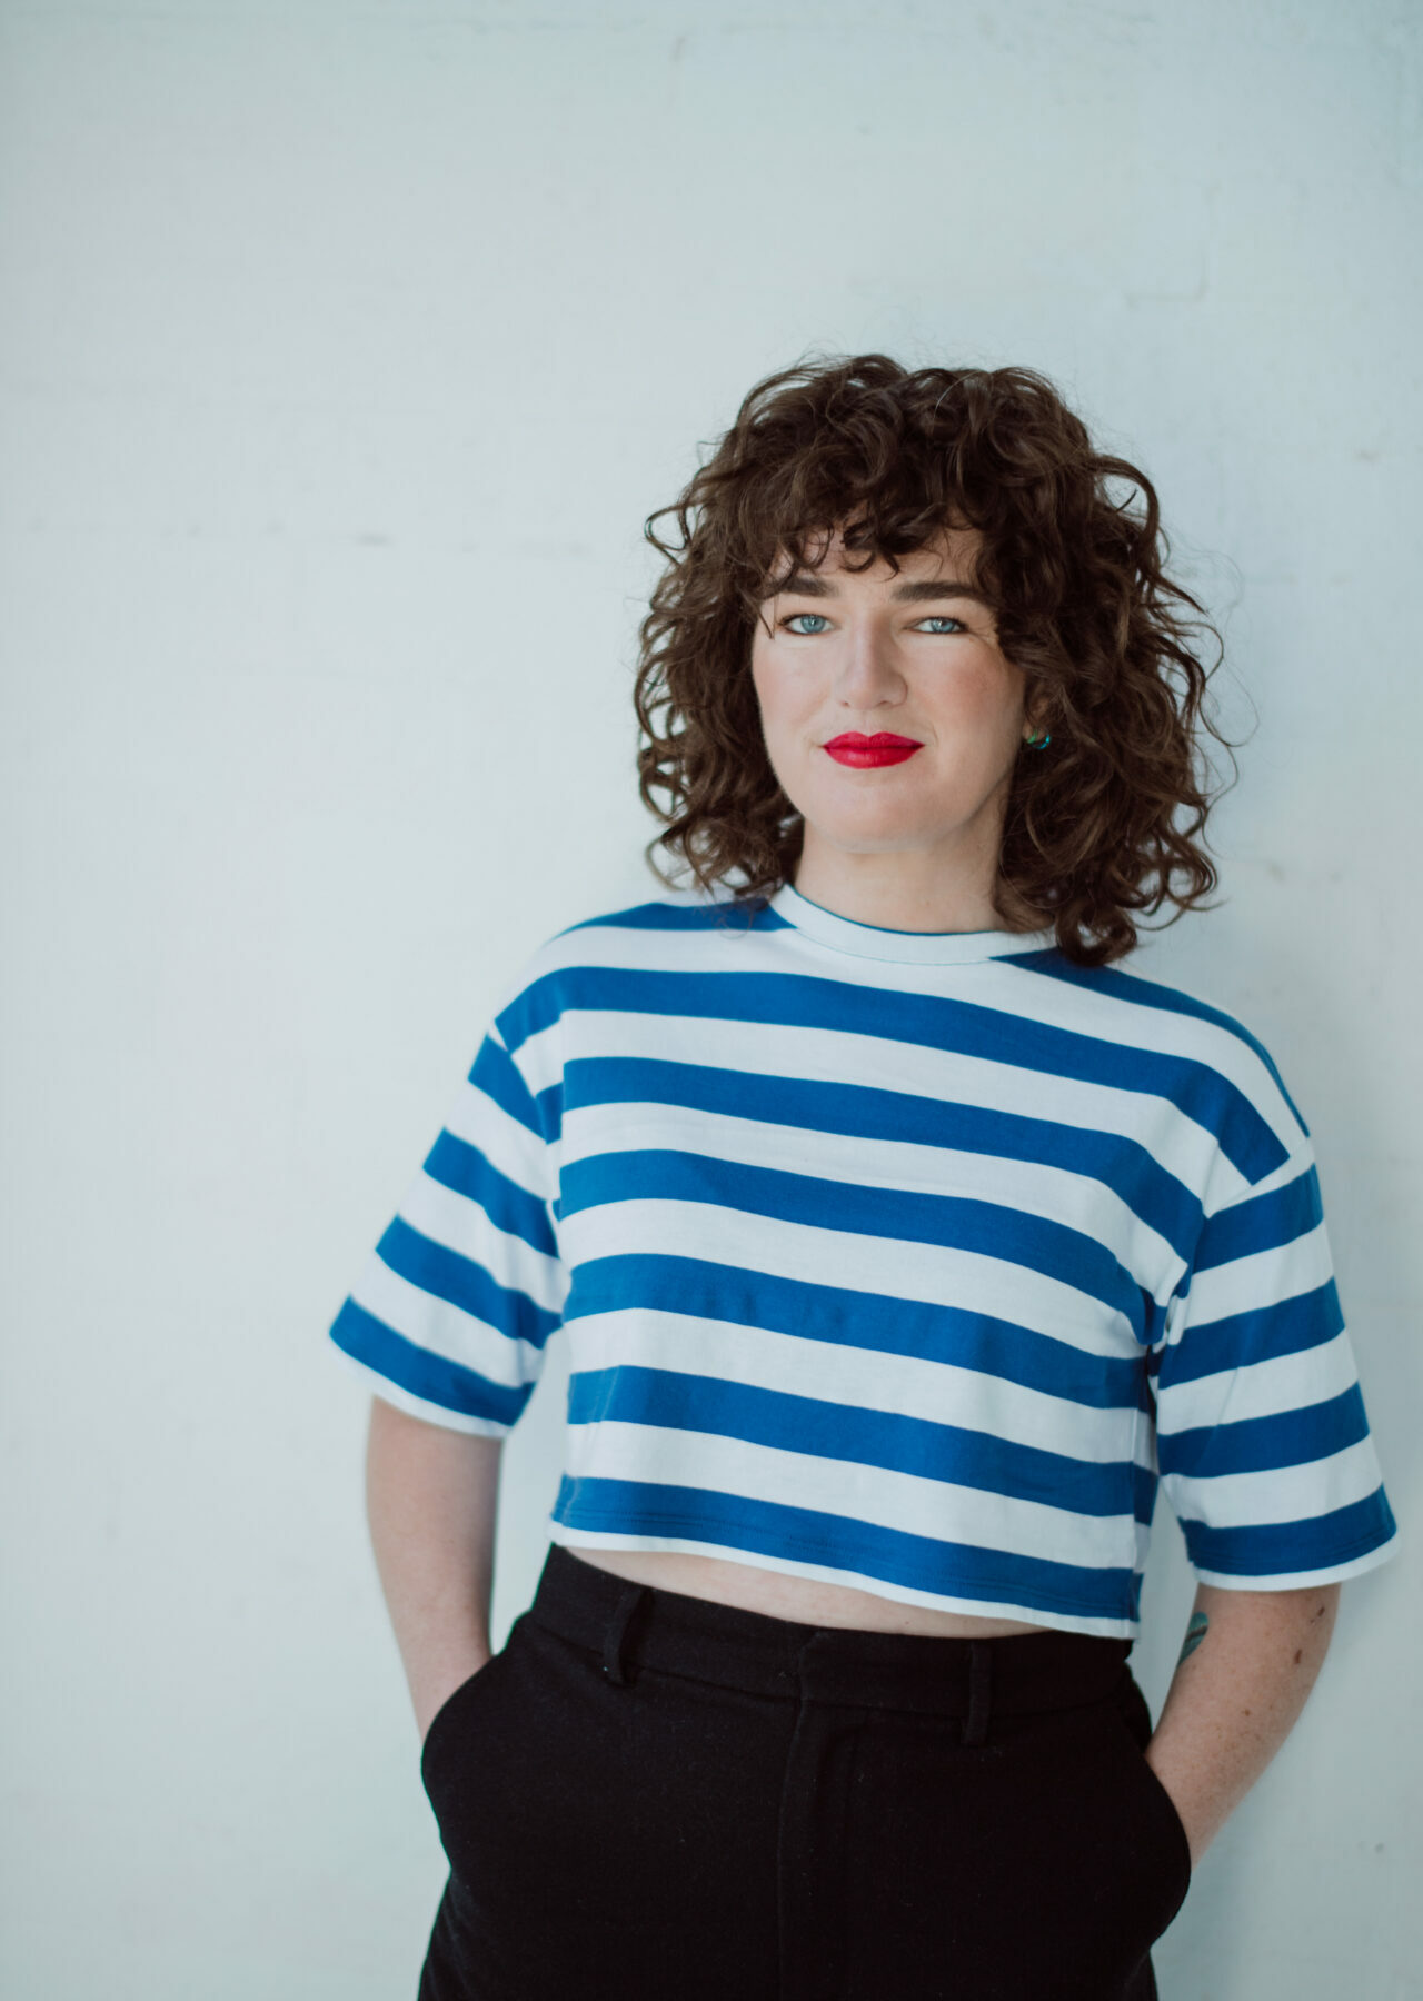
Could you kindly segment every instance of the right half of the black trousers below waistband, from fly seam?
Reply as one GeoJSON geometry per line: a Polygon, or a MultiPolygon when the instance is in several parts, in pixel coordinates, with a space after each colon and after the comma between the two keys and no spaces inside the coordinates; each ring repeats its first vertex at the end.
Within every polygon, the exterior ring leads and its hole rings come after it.
{"type": "Polygon", "coordinates": [[[1149,1995],[1189,1861],[1155,1785],[1113,1697],[991,1717],[981,1745],[959,1717],[869,1713],[843,1835],[837,1821],[827,1991],[1149,1995]]]}

